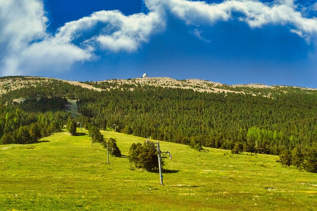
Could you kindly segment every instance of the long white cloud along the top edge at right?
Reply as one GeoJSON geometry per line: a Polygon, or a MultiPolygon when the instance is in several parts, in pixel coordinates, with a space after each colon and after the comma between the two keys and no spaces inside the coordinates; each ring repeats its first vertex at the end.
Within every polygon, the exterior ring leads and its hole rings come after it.
{"type": "Polygon", "coordinates": [[[250,27],[261,28],[268,24],[294,25],[303,33],[317,34],[317,19],[305,18],[296,11],[294,0],[279,0],[269,5],[255,0],[226,0],[222,3],[208,4],[203,1],[162,0],[165,6],[188,24],[213,24],[235,18],[232,13],[239,12],[239,20],[250,27]]]}

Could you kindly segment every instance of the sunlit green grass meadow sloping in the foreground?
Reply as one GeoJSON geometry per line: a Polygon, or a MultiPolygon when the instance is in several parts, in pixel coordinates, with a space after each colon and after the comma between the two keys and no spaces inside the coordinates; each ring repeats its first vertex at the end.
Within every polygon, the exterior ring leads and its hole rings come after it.
{"type": "Polygon", "coordinates": [[[31,145],[0,145],[0,210],[317,210],[317,174],[285,167],[277,156],[231,155],[160,142],[172,153],[159,173],[135,170],[127,152],[144,138],[104,132],[123,158],[99,143],[53,134],[31,145]]]}

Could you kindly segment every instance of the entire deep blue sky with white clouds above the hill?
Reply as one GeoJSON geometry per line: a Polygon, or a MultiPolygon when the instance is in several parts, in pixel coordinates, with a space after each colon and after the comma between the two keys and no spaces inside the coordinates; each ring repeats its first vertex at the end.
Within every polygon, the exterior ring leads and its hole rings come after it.
{"type": "Polygon", "coordinates": [[[316,0],[0,0],[0,75],[317,88],[316,0]]]}

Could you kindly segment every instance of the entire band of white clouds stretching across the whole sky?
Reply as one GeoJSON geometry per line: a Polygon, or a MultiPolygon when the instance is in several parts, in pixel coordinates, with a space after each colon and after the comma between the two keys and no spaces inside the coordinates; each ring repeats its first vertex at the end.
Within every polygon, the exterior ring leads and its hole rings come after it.
{"type": "MultiPolygon", "coordinates": [[[[310,41],[317,35],[317,19],[297,11],[296,0],[225,0],[206,3],[190,0],[144,0],[147,14],[126,16],[120,11],[98,11],[65,23],[54,34],[47,31],[43,0],[0,0],[0,71],[2,75],[65,70],[89,61],[97,50],[136,52],[166,25],[166,12],[194,25],[190,32],[202,37],[200,25],[238,19],[251,28],[283,25],[310,41]]],[[[317,4],[313,5],[315,10],[317,4]]],[[[309,42],[308,42],[309,43],[309,42]]]]}

